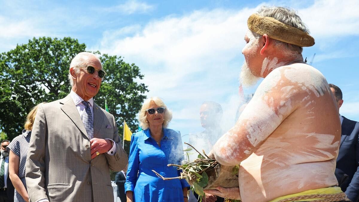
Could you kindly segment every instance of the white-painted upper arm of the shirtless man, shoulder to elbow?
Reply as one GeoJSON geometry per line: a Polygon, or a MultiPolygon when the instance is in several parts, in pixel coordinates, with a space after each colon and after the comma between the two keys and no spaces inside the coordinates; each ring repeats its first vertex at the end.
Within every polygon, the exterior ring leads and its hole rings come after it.
{"type": "Polygon", "coordinates": [[[298,107],[303,99],[300,86],[273,70],[258,86],[241,116],[213,147],[215,159],[230,166],[256,151],[263,141],[298,107]]]}

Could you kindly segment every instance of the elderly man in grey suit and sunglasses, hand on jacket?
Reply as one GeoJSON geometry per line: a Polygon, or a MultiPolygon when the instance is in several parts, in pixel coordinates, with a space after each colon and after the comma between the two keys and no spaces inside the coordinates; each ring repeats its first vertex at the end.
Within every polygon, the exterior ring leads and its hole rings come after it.
{"type": "Polygon", "coordinates": [[[39,106],[26,163],[30,202],[113,201],[109,169],[122,170],[127,155],[115,118],[93,102],[105,74],[97,56],[81,52],[70,64],[70,94],[39,106]]]}

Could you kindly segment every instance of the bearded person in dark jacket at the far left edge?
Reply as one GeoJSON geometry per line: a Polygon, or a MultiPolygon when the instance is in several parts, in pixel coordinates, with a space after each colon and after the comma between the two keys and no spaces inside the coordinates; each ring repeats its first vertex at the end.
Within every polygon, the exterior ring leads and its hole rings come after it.
{"type": "Polygon", "coordinates": [[[1,141],[0,156],[0,202],[14,201],[14,187],[9,178],[9,151],[6,149],[10,141],[1,141]]]}

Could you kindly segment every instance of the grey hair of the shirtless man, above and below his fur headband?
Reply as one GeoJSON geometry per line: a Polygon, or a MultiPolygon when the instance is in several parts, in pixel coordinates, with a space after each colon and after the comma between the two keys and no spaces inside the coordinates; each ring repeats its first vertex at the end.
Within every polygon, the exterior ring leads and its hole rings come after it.
{"type": "MultiPolygon", "coordinates": [[[[307,28],[307,26],[302,22],[302,19],[300,19],[300,17],[297,15],[297,11],[295,11],[294,9],[291,8],[284,8],[284,7],[280,7],[280,6],[262,6],[258,11],[257,14],[262,16],[262,17],[272,17],[276,20],[278,20],[279,22],[282,22],[286,25],[295,27],[303,32],[306,32],[309,34],[309,29],[307,28]]],[[[257,37],[261,37],[261,35],[252,32],[253,36],[257,37]]],[[[286,50],[290,51],[290,52],[298,52],[298,53],[302,53],[303,48],[299,47],[297,45],[293,45],[290,43],[286,43],[283,41],[278,41],[275,40],[275,45],[278,46],[283,46],[286,50]]]]}

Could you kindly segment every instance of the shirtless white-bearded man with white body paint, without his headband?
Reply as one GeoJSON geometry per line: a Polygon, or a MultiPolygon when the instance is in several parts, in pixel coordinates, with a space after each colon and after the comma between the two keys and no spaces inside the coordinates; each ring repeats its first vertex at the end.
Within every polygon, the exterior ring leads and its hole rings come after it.
{"type": "MultiPolygon", "coordinates": [[[[258,15],[308,32],[292,10],[263,6],[258,15]]],[[[211,152],[222,165],[241,163],[239,188],[205,192],[243,202],[267,202],[337,185],[334,170],[341,129],[326,79],[303,62],[300,46],[250,30],[244,40],[241,81],[264,80],[236,125],[211,152]]]]}

